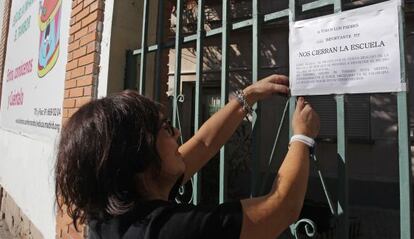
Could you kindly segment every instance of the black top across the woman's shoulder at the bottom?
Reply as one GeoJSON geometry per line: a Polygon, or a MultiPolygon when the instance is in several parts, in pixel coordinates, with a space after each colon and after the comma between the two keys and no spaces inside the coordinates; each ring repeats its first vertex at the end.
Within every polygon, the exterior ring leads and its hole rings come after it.
{"type": "Polygon", "coordinates": [[[129,213],[104,223],[92,222],[89,228],[101,235],[96,238],[202,238],[205,232],[222,234],[223,229],[238,235],[241,222],[239,201],[196,206],[157,200],[137,203],[129,213]]]}

